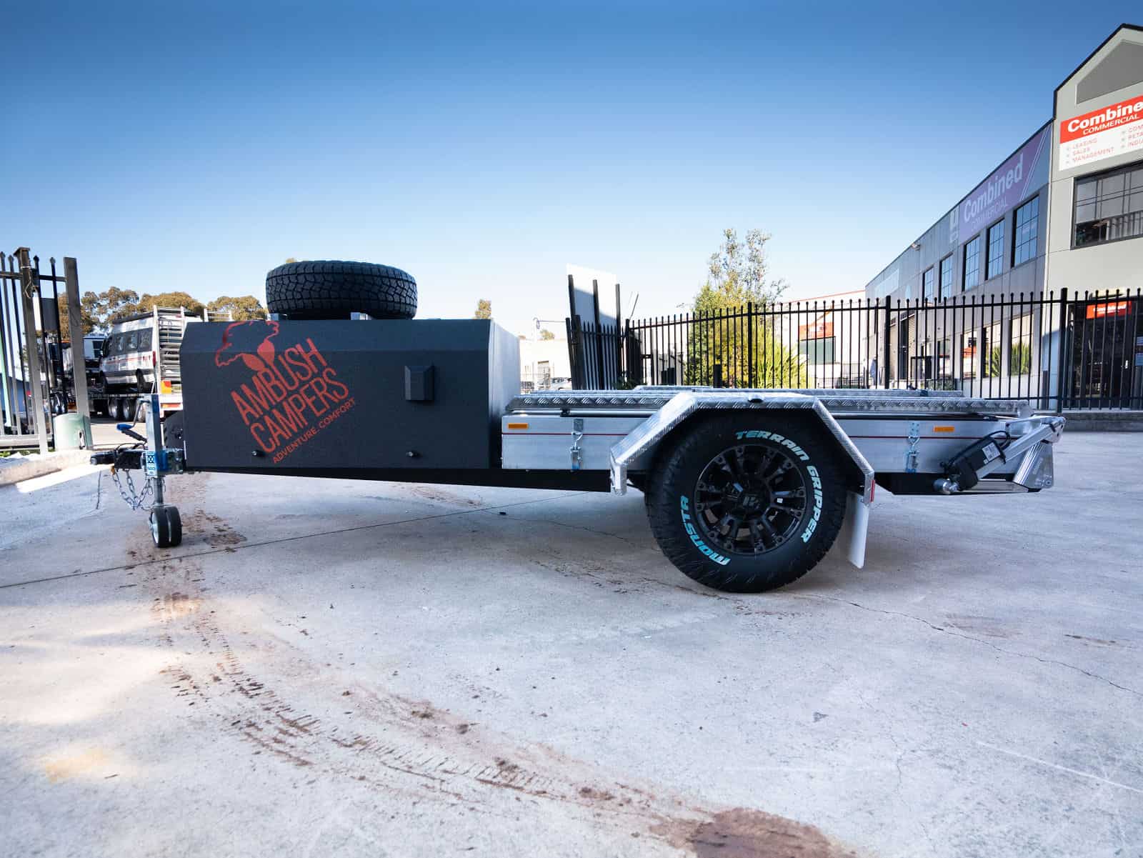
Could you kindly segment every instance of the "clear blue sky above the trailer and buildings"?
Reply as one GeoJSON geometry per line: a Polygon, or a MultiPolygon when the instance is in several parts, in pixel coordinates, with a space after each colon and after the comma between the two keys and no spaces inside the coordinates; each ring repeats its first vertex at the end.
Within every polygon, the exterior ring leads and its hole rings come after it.
{"type": "Polygon", "coordinates": [[[566,263],[672,312],[725,226],[790,296],[861,288],[1138,9],[13,2],[0,241],[203,299],[383,262],[513,329],[562,318],[566,263]]]}

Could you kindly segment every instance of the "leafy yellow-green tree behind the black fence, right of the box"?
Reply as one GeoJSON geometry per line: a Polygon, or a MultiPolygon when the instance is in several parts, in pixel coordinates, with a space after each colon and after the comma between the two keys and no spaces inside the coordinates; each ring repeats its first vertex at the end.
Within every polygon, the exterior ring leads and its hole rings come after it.
{"type": "Polygon", "coordinates": [[[802,360],[762,312],[788,288],[784,280],[768,276],[769,239],[761,230],[750,230],[745,241],[735,230],[722,231],[722,244],[711,254],[706,282],[694,299],[684,368],[687,384],[802,387],[808,383],[802,360]]]}

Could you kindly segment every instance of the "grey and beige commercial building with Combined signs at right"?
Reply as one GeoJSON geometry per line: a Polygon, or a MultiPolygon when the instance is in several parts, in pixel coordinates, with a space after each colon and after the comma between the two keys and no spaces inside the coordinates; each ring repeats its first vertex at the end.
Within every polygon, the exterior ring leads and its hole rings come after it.
{"type": "Polygon", "coordinates": [[[1140,407],[1141,287],[1143,27],[1124,24],[1056,87],[1052,118],[866,284],[917,305],[893,318],[878,380],[997,395],[1016,379],[1055,404],[1140,407]],[[950,304],[972,308],[959,326],[950,304]]]}

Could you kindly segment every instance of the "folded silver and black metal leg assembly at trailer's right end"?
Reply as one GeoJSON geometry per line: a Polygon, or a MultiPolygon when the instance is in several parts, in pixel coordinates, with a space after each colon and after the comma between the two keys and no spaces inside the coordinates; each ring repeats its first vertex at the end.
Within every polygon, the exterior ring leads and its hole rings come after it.
{"type": "Polygon", "coordinates": [[[944,476],[933,487],[942,495],[958,495],[968,491],[986,491],[981,480],[997,468],[1022,457],[1012,483],[997,483],[1000,491],[1010,487],[1022,487],[1028,491],[1052,488],[1052,444],[1060,440],[1064,430],[1063,417],[1024,417],[1009,420],[1002,430],[982,438],[941,465],[944,476]],[[1001,488],[1002,487],[1002,488],[1001,488]]]}

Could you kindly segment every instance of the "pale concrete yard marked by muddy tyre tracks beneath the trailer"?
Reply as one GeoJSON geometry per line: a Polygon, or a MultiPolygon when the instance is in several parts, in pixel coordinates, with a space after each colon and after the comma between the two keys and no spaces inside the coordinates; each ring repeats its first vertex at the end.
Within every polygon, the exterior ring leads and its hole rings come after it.
{"type": "Polygon", "coordinates": [[[0,853],[1143,855],[1140,454],[758,596],[638,492],[193,475],[159,551],[106,471],[0,489],[0,853]]]}

